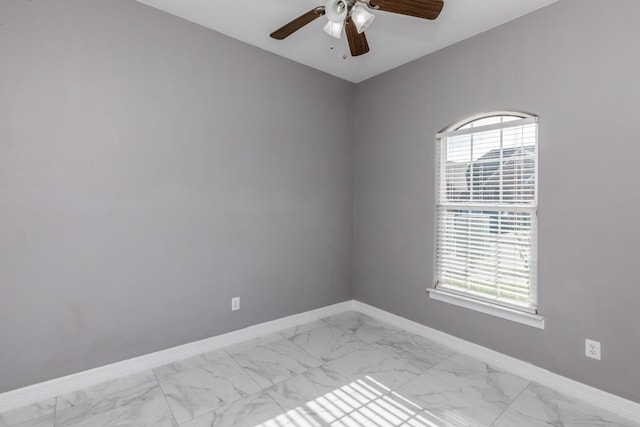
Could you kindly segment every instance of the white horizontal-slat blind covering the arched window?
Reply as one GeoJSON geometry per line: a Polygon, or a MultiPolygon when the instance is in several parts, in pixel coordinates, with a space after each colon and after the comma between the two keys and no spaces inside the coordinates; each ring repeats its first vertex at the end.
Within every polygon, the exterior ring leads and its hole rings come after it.
{"type": "Polygon", "coordinates": [[[437,135],[436,288],[536,312],[537,119],[437,135]]]}

